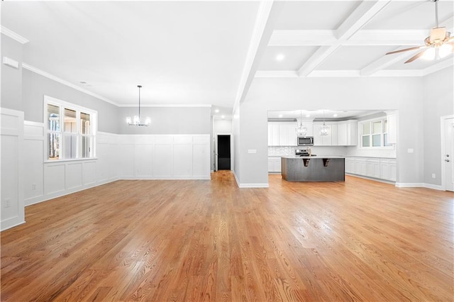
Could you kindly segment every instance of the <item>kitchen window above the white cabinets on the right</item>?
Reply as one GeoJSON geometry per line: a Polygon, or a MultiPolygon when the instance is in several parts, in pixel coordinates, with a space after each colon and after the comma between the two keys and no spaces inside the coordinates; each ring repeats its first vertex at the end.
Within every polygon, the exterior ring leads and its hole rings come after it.
{"type": "Polygon", "coordinates": [[[388,121],[386,117],[359,123],[361,147],[392,147],[388,142],[388,121]]]}

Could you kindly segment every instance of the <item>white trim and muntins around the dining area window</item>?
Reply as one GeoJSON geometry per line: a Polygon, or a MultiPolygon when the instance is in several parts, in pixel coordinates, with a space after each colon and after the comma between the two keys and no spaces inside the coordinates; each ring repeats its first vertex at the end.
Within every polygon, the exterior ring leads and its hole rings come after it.
{"type": "MultiPolygon", "coordinates": [[[[83,107],[83,106],[79,106],[79,105],[76,105],[76,104],[72,104],[72,103],[69,103],[67,101],[62,101],[60,99],[55,99],[55,98],[52,98],[52,96],[44,96],[44,101],[43,101],[43,122],[44,122],[44,130],[45,130],[45,144],[44,144],[44,162],[45,163],[52,163],[52,162],[68,162],[68,161],[74,161],[74,160],[96,160],[96,133],[97,133],[97,129],[98,129],[98,111],[96,110],[93,110],[93,109],[90,109],[90,108],[86,108],[86,107],[83,107]],[[60,158],[58,160],[49,160],[48,159],[48,156],[49,156],[49,150],[48,150],[48,133],[50,132],[49,129],[48,129],[48,104],[50,105],[55,105],[55,106],[59,106],[60,107],[60,122],[61,122],[61,119],[64,118],[64,113],[62,113],[62,111],[64,111],[64,108],[68,108],[68,109],[72,109],[74,111],[76,111],[77,113],[77,158],[60,158]],[[79,137],[82,137],[82,136],[85,136],[85,135],[82,135],[81,133],[79,133],[79,115],[80,113],[83,112],[83,113],[89,113],[90,114],[90,119],[91,119],[91,130],[92,130],[92,134],[89,135],[89,136],[92,136],[93,138],[93,152],[92,152],[92,157],[84,157],[84,158],[80,158],[79,157],[79,137]]],[[[61,138],[60,138],[60,156],[64,154],[64,146],[63,146],[63,140],[64,140],[64,135],[65,135],[65,123],[60,123],[60,134],[62,135],[61,138]]]]}

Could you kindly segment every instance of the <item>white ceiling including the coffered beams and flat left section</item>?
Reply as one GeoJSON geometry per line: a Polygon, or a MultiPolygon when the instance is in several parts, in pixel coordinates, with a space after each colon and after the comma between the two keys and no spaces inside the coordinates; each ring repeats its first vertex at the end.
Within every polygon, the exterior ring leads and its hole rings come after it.
{"type": "MultiPolygon", "coordinates": [[[[439,0],[451,32],[453,16],[454,0],[439,0]]],[[[231,114],[248,77],[421,77],[453,65],[384,55],[422,45],[433,26],[428,0],[1,2],[26,68],[118,106],[135,106],[141,84],[144,106],[212,105],[215,116],[231,114]]]]}

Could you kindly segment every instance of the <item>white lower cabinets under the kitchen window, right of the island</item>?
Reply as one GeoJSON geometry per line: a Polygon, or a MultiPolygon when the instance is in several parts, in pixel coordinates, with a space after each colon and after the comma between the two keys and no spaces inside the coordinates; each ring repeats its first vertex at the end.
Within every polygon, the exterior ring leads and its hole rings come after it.
{"type": "Polygon", "coordinates": [[[345,157],[345,173],[396,181],[396,160],[379,157],[345,157]]]}

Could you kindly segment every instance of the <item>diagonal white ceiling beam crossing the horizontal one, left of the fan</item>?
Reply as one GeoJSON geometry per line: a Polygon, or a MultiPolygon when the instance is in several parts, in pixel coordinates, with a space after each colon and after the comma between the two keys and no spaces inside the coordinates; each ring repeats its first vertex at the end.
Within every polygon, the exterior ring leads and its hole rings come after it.
{"type": "Polygon", "coordinates": [[[331,46],[321,46],[298,70],[300,77],[307,77],[314,69],[319,66],[326,58],[335,52],[341,44],[365,26],[379,11],[389,4],[389,0],[383,1],[362,1],[353,13],[343,21],[341,26],[336,30],[338,43],[331,46]]]}

